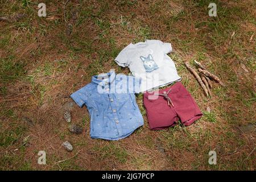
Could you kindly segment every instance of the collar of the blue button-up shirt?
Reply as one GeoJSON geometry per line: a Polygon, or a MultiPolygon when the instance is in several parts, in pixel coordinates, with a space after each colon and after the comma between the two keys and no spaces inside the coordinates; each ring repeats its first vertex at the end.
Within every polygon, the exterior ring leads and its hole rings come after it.
{"type": "Polygon", "coordinates": [[[115,80],[115,71],[110,71],[108,73],[102,73],[100,75],[95,75],[92,77],[92,82],[104,86],[106,83],[112,83],[115,80]]]}

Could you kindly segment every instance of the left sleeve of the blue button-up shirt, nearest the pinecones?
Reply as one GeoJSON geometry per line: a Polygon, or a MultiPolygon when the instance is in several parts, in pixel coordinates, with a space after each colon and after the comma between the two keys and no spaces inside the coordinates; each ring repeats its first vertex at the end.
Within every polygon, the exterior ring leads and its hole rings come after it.
{"type": "Polygon", "coordinates": [[[82,107],[88,101],[88,89],[86,86],[72,93],[70,96],[79,107],[82,107]]]}

